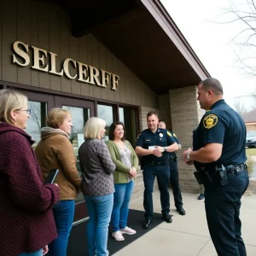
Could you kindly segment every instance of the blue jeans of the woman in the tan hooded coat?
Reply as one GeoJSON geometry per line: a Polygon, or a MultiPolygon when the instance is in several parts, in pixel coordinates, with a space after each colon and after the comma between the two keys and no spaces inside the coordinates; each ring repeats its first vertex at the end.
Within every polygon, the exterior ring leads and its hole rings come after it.
{"type": "Polygon", "coordinates": [[[75,201],[59,201],[53,207],[58,237],[49,244],[47,256],[66,256],[67,241],[73,223],[75,201]]]}

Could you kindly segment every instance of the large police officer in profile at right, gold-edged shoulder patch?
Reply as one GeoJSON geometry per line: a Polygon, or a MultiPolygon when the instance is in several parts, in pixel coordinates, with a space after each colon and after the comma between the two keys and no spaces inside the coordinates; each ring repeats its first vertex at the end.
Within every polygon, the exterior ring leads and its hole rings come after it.
{"type": "Polygon", "coordinates": [[[194,132],[193,151],[183,152],[194,163],[205,186],[207,224],[219,256],[246,256],[241,238],[241,195],[248,186],[246,127],[241,116],[224,102],[217,79],[198,85],[201,108],[207,110],[194,132]]]}

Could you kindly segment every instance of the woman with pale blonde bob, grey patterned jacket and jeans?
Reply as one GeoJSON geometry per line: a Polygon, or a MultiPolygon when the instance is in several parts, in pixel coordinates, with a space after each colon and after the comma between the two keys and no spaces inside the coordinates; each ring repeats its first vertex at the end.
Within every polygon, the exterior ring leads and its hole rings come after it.
{"type": "Polygon", "coordinates": [[[108,255],[108,225],[113,208],[113,171],[106,143],[102,140],[106,122],[90,118],[84,126],[84,143],[79,148],[83,193],[89,211],[87,241],[89,256],[108,255]]]}

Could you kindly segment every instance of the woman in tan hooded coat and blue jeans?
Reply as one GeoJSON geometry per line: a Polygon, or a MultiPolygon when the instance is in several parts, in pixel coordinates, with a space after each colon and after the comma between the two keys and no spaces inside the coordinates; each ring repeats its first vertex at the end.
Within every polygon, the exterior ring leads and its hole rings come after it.
{"type": "Polygon", "coordinates": [[[58,238],[49,244],[49,255],[66,256],[75,198],[81,185],[77,159],[68,137],[73,124],[70,113],[62,108],[52,108],[46,122],[49,127],[41,130],[41,141],[35,153],[44,179],[50,170],[59,170],[55,183],[58,183],[61,194],[61,201],[53,208],[58,238]]]}

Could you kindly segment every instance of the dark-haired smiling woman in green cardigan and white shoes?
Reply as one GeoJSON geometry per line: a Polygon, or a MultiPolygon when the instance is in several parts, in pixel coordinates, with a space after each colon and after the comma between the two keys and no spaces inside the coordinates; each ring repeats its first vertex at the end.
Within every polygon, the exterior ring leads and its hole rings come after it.
{"type": "Polygon", "coordinates": [[[125,141],[125,126],[120,122],[110,126],[107,146],[116,166],[113,172],[115,192],[111,216],[112,236],[116,241],[124,241],[123,234],[136,234],[136,230],[127,227],[127,218],[134,179],[137,175],[138,159],[131,143],[125,141]]]}

